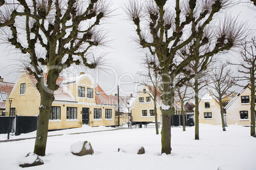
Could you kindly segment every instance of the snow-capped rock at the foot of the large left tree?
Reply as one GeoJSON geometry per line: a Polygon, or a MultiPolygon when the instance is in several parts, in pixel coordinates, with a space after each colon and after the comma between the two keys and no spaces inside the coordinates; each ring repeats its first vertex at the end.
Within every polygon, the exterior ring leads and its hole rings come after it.
{"type": "Polygon", "coordinates": [[[43,164],[43,160],[41,160],[38,155],[31,152],[18,158],[18,165],[20,167],[40,166],[43,164]]]}

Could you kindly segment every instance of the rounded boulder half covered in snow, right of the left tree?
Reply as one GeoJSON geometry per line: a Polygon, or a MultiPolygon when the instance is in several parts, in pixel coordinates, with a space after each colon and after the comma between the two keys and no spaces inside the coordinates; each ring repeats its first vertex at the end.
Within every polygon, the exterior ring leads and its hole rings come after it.
{"type": "Polygon", "coordinates": [[[94,154],[94,149],[92,148],[92,145],[90,145],[89,141],[79,141],[72,144],[70,147],[70,151],[72,154],[78,156],[94,154]]]}

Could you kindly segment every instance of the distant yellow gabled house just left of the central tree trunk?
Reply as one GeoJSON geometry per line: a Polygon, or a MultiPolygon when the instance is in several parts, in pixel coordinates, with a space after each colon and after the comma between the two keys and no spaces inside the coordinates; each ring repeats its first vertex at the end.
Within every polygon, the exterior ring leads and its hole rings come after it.
{"type": "MultiPolygon", "coordinates": [[[[152,88],[151,88],[152,89],[152,88]]],[[[153,100],[150,96],[152,90],[143,86],[136,96],[131,106],[133,122],[155,122],[155,112],[153,100]]],[[[160,110],[160,93],[157,96],[157,121],[161,121],[162,112],[160,110]]]]}

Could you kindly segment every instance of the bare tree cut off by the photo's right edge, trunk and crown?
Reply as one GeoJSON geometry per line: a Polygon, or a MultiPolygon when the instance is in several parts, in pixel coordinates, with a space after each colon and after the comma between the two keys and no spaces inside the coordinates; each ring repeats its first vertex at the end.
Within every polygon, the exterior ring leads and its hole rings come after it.
{"type": "Polygon", "coordinates": [[[239,81],[250,82],[251,101],[251,136],[256,137],[255,134],[255,81],[256,81],[256,37],[253,37],[250,41],[243,44],[241,49],[242,62],[239,67],[239,81]]]}

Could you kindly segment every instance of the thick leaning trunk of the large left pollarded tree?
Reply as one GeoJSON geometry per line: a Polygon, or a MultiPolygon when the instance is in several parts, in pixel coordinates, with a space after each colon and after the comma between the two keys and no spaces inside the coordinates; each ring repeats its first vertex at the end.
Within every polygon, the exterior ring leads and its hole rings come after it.
{"type": "Polygon", "coordinates": [[[48,123],[52,111],[53,94],[44,91],[41,93],[39,107],[38,129],[36,131],[36,141],[34,144],[34,154],[44,156],[48,134],[48,123]]]}

